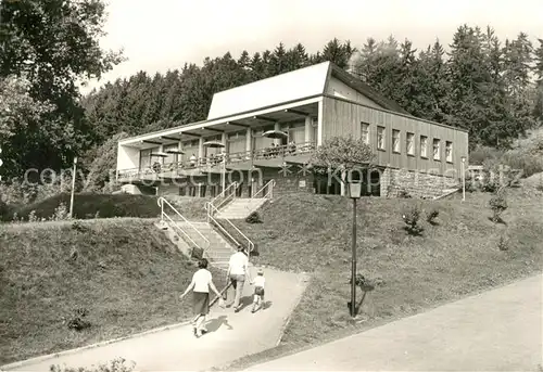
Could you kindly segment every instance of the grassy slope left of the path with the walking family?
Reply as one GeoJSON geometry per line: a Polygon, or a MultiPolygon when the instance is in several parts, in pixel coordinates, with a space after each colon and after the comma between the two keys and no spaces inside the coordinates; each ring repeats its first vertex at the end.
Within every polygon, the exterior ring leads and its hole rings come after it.
{"type": "MultiPolygon", "coordinates": [[[[178,294],[193,264],[151,221],[79,223],[84,231],[71,222],[0,225],[0,364],[191,316],[178,294]],[[66,326],[76,308],[88,309],[89,330],[66,326]]],[[[214,271],[219,287],[223,277],[214,271]]]]}

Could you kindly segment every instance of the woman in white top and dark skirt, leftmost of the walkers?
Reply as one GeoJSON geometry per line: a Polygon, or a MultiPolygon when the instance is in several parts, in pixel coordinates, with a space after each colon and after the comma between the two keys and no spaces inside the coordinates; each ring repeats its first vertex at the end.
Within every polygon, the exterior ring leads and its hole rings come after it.
{"type": "Polygon", "coordinates": [[[213,284],[213,278],[207,270],[207,259],[202,258],[198,262],[198,271],[192,275],[192,281],[185,292],[179,296],[182,299],[190,291],[192,291],[192,309],[194,312],[194,320],[192,325],[194,328],[194,336],[200,337],[206,333],[203,325],[205,317],[210,312],[210,288],[217,295],[219,306],[224,306],[220,293],[213,284]]]}

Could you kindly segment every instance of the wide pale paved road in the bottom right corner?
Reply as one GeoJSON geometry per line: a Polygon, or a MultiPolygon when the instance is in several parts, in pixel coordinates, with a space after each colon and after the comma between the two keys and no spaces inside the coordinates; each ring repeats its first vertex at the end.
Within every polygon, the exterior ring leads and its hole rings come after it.
{"type": "Polygon", "coordinates": [[[249,371],[538,371],[543,275],[249,371]]]}

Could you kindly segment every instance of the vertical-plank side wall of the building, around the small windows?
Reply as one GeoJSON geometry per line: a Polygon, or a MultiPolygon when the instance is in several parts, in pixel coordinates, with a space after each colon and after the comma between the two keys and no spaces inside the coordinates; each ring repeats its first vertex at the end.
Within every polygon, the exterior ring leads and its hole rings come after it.
{"type": "Polygon", "coordinates": [[[369,145],[376,154],[378,166],[457,177],[462,171],[462,156],[466,156],[467,163],[466,130],[372,108],[337,97],[324,98],[323,141],[338,136],[362,138],[364,124],[368,125],[369,145]],[[378,132],[381,130],[384,145],[378,149],[378,132]],[[408,136],[414,140],[411,153],[407,153],[408,136]],[[421,137],[427,139],[426,156],[421,156],[421,137]],[[393,139],[396,138],[399,146],[394,151],[393,139]],[[434,140],[439,143],[439,159],[433,156],[434,140]],[[452,153],[449,159],[447,147],[452,153]]]}

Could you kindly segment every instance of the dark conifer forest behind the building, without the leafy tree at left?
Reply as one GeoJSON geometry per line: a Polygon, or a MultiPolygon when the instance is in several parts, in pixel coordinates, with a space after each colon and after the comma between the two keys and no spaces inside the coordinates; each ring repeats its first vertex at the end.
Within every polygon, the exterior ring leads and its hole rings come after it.
{"type": "Polygon", "coordinates": [[[411,114],[470,130],[472,144],[507,146],[541,121],[543,40],[526,34],[501,41],[489,27],[462,26],[453,43],[424,50],[405,39],[329,41],[316,54],[299,43],[239,56],[226,52],[202,66],[186,64],[165,74],[139,72],[106,84],[84,100],[100,141],[205,119],[213,93],[323,61],[356,75],[411,114]],[[449,49],[449,52],[445,52],[449,49]],[[536,105],[539,100],[539,105],[536,105]],[[538,110],[539,108],[539,110],[538,110]]]}

